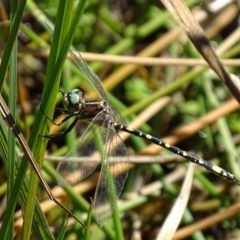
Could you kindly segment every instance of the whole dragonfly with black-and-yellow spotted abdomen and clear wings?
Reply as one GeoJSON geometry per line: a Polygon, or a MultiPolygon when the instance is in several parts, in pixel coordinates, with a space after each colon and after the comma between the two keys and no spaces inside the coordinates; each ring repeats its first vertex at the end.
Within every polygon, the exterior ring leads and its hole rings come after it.
{"type": "Polygon", "coordinates": [[[79,89],[67,93],[60,90],[66,108],[56,108],[56,110],[67,116],[59,123],[54,122],[47,115],[46,117],[57,126],[72,117],[75,119],[65,131],[43,136],[47,138],[64,137],[79,120],[89,122],[77,146],[59,162],[57,176],[60,185],[75,184],[89,176],[101,163],[100,176],[93,200],[95,218],[100,226],[112,214],[128,176],[128,152],[119,136],[120,131],[149,140],[240,186],[240,181],[223,168],[159,138],[127,126],[120,112],[110,104],[99,78],[90,71],[81,55],[79,54],[78,58],[72,51],[70,54],[99,94],[100,100],[84,100],[83,93],[79,89]]]}

